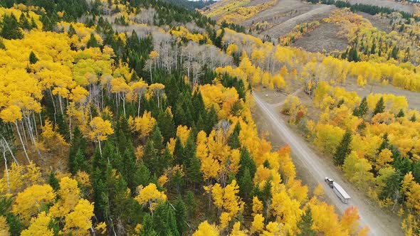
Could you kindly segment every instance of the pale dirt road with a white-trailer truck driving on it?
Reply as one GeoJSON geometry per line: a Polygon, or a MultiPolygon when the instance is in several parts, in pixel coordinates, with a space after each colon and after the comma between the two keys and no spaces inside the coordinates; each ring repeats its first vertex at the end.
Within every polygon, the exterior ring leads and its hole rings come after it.
{"type": "Polygon", "coordinates": [[[332,163],[328,163],[325,159],[317,156],[310,149],[310,146],[306,144],[305,140],[289,129],[283,119],[280,119],[278,107],[264,102],[255,93],[253,95],[256,105],[263,113],[263,116],[273,124],[274,130],[271,133],[279,136],[285,143],[289,144],[290,149],[292,149],[292,157],[295,164],[299,163],[303,165],[300,166],[300,169],[303,169],[309,176],[322,183],[326,197],[330,198],[330,202],[335,205],[339,213],[344,213],[350,205],[355,205],[359,209],[360,222],[362,226],[369,227],[370,235],[403,235],[399,220],[396,217],[388,215],[379,209],[367,196],[357,191],[356,188],[353,188],[350,183],[347,183],[342,173],[332,163]],[[349,193],[352,198],[349,205],[343,204],[337,195],[332,192],[332,189],[324,183],[326,176],[340,183],[345,191],[349,193]]]}

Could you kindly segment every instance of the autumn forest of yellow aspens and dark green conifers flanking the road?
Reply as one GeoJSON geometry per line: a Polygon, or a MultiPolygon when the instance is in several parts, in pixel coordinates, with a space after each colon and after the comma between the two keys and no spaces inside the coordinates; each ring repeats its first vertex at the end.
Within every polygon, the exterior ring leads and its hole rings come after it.
{"type": "Polygon", "coordinates": [[[229,21],[271,1],[221,21],[171,2],[0,1],[0,235],[368,235],[258,132],[253,90],[294,82],[322,114],[290,96],[290,124],[419,232],[419,112],[332,86],[419,92],[416,65],[273,45],[229,21]]]}

